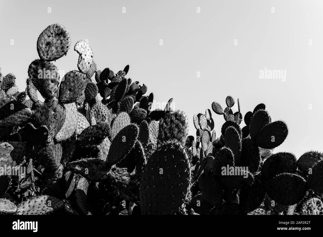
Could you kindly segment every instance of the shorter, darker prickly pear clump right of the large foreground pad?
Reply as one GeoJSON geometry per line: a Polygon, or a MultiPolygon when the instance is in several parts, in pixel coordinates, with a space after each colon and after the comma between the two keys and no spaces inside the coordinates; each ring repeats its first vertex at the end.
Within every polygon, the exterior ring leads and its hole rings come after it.
{"type": "Polygon", "coordinates": [[[245,114],[245,126],[240,128],[239,99],[236,113],[231,109],[232,96],[226,97],[226,104],[223,110],[219,103],[212,103],[212,110],[224,115],[219,137],[209,125],[214,124],[209,109],[205,115],[193,117],[196,142],[192,137],[192,173],[198,185],[192,187],[191,212],[322,214],[323,154],[310,151],[297,159],[290,152],[273,153],[288,135],[287,124],[272,122],[265,104],[258,104],[245,114]],[[232,173],[226,171],[229,167],[232,173]]]}

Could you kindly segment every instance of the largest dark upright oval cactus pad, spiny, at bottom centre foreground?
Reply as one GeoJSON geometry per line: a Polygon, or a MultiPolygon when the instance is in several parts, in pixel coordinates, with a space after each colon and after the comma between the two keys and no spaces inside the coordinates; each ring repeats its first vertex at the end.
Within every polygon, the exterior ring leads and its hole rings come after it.
{"type": "Polygon", "coordinates": [[[184,147],[169,142],[151,155],[140,183],[142,214],[174,214],[184,203],[191,181],[184,147]]]}

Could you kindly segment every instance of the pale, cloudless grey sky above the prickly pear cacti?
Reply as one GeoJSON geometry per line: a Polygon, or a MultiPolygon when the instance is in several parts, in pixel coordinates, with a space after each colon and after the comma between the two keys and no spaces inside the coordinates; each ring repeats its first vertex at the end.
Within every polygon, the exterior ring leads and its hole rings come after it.
{"type": "MultiPolygon", "coordinates": [[[[68,54],[54,62],[61,73],[77,70],[74,45],[88,40],[99,70],[129,64],[127,77],[147,85],[156,104],[173,98],[192,135],[193,115],[213,101],[226,107],[226,96],[239,98],[243,115],[264,103],[289,128],[275,152],[298,158],[323,151],[322,12],[319,0],[1,0],[0,68],[25,90],[38,35],[59,23],[71,38],[68,54]]],[[[212,116],[220,136],[224,118],[212,116]]]]}

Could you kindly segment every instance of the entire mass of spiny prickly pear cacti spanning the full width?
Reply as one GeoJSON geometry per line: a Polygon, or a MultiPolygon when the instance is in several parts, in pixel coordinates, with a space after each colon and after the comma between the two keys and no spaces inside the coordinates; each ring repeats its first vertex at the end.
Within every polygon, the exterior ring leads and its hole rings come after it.
{"type": "Polygon", "coordinates": [[[0,173],[0,214],[323,214],[323,154],[273,153],[288,129],[264,104],[243,117],[239,99],[236,113],[231,96],[224,110],[213,102],[221,135],[207,109],[194,137],[172,99],[152,110],[129,65],[98,70],[86,41],[78,70],[59,78],[52,62],[70,44],[59,24],[39,35],[24,92],[0,72],[0,172],[12,168],[0,173]]]}

